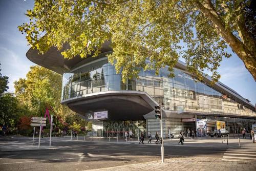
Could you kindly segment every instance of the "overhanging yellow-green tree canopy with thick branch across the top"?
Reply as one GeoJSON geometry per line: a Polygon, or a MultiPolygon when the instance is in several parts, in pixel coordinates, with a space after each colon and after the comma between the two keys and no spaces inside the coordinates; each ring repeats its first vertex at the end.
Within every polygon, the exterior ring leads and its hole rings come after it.
{"type": "MultiPolygon", "coordinates": [[[[144,70],[169,66],[179,57],[202,79],[208,70],[214,81],[227,45],[256,79],[255,11],[252,1],[224,0],[35,0],[27,11],[26,32],[40,53],[66,43],[65,58],[97,56],[105,40],[112,42],[109,61],[122,71],[123,81],[144,70]],[[150,62],[145,62],[145,60],[150,62]]],[[[255,4],[254,4],[255,5],[255,4]]]]}

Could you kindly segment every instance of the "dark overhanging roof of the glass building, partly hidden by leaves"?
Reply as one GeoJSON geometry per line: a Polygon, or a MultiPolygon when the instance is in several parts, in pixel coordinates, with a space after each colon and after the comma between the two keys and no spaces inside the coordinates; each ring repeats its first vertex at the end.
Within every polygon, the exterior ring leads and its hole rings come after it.
{"type": "MultiPolygon", "coordinates": [[[[63,46],[62,51],[69,48],[69,45],[63,46]]],[[[113,49],[110,47],[110,41],[105,41],[101,48],[101,53],[111,53],[113,49]]],[[[73,68],[76,68],[80,65],[80,63],[87,63],[91,62],[93,60],[96,60],[98,58],[101,58],[102,55],[99,55],[99,57],[91,57],[88,56],[87,58],[81,58],[80,56],[75,56],[72,59],[64,59],[63,56],[60,54],[61,51],[58,51],[57,48],[51,48],[48,50],[48,52],[44,54],[38,54],[38,51],[36,49],[29,49],[26,56],[29,60],[36,63],[37,65],[40,65],[42,67],[45,67],[47,69],[50,69],[54,72],[57,72],[59,74],[63,74],[65,72],[68,72],[72,70],[73,68]]],[[[175,68],[178,68],[183,71],[187,71],[186,65],[182,61],[178,61],[176,63],[175,68]]],[[[210,83],[211,77],[204,76],[204,81],[207,83],[210,83]]],[[[252,105],[248,100],[243,98],[241,95],[239,95],[236,91],[232,90],[231,88],[227,87],[222,82],[216,82],[213,86],[215,89],[219,90],[220,92],[233,97],[237,100],[237,102],[240,102],[251,110],[255,111],[255,106],[252,105]]]]}

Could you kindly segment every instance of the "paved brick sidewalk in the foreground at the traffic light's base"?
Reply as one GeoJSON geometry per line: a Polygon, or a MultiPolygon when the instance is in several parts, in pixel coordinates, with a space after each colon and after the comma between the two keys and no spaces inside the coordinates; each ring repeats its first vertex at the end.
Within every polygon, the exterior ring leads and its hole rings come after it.
{"type": "Polygon", "coordinates": [[[209,157],[182,157],[165,159],[164,163],[161,161],[153,161],[139,164],[123,165],[116,167],[107,167],[101,169],[92,169],[93,171],[113,171],[113,170],[256,170],[256,162],[234,162],[222,161],[220,158],[209,157]]]}

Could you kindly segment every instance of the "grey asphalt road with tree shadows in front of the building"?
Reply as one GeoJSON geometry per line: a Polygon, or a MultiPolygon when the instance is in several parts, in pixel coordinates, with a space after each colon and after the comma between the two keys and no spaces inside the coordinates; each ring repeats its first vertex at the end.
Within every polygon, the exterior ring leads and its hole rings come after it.
{"type": "MultiPolygon", "coordinates": [[[[26,137],[10,140],[0,137],[0,142],[31,143],[31,138],[26,137]]],[[[48,142],[48,139],[43,139],[41,144],[48,145],[48,142]]],[[[0,152],[0,170],[87,170],[161,160],[161,145],[154,143],[114,144],[55,139],[53,144],[62,148],[0,152]]],[[[226,149],[180,145],[166,146],[164,151],[165,158],[222,158],[226,149]]]]}

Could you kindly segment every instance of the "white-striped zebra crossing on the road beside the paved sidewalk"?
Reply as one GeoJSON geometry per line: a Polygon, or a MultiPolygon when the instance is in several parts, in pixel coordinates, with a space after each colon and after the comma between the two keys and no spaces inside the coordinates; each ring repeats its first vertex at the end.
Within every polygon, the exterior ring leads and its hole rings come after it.
{"type": "Polygon", "coordinates": [[[256,162],[256,148],[229,148],[222,161],[256,162]]]}

